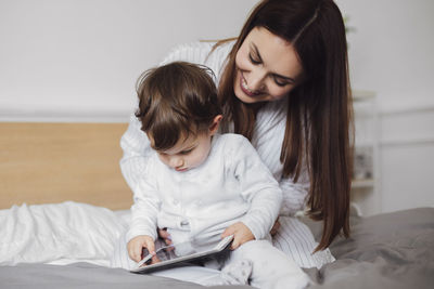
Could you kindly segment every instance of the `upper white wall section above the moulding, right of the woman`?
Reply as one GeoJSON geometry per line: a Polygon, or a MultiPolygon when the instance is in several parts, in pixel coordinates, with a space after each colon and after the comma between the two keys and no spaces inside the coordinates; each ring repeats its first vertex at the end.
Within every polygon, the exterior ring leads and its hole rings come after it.
{"type": "Polygon", "coordinates": [[[382,111],[434,106],[434,1],[337,0],[348,26],[353,87],[382,111]]]}

